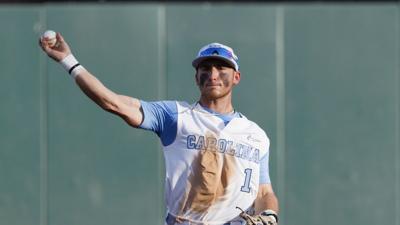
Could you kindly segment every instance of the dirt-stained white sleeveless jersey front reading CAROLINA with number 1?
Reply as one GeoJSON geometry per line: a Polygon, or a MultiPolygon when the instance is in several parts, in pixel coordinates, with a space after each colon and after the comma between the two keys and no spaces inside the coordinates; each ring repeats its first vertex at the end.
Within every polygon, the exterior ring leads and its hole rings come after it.
{"type": "Polygon", "coordinates": [[[168,213],[198,224],[224,224],[251,207],[258,191],[265,132],[244,116],[227,125],[200,104],[177,102],[177,131],[164,146],[168,213]]]}

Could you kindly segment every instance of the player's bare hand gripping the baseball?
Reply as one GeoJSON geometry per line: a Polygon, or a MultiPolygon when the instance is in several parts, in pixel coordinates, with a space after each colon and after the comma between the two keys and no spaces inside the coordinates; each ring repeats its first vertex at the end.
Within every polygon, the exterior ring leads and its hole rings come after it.
{"type": "Polygon", "coordinates": [[[57,42],[53,47],[49,46],[46,38],[39,38],[39,46],[50,58],[60,62],[62,59],[67,57],[67,55],[71,54],[71,49],[60,33],[57,32],[56,38],[57,42]]]}

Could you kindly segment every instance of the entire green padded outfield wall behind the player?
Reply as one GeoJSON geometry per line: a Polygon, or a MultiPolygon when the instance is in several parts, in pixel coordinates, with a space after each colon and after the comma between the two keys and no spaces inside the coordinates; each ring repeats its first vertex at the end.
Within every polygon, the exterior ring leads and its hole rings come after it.
{"type": "Polygon", "coordinates": [[[236,110],[271,139],[281,225],[400,225],[399,3],[0,4],[0,224],[163,224],[160,142],[102,111],[38,38],[117,93],[196,101],[191,61],[239,55],[236,110]]]}

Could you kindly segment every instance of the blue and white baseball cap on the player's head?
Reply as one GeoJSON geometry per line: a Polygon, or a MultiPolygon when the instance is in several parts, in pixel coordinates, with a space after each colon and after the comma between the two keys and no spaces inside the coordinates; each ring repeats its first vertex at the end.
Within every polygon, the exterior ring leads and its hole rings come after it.
{"type": "Polygon", "coordinates": [[[202,47],[197,54],[197,57],[193,60],[192,66],[197,68],[201,62],[206,59],[219,59],[232,66],[236,71],[239,71],[239,58],[233,52],[233,49],[220,44],[211,43],[202,47]]]}

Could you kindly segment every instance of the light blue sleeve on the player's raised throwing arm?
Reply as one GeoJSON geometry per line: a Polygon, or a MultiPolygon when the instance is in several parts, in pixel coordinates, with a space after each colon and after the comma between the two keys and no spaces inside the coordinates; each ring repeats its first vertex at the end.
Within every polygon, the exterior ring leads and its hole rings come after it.
{"type": "Polygon", "coordinates": [[[175,101],[140,101],[143,121],[139,128],[156,133],[164,146],[174,142],[177,132],[177,106],[175,101]]]}

